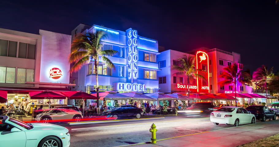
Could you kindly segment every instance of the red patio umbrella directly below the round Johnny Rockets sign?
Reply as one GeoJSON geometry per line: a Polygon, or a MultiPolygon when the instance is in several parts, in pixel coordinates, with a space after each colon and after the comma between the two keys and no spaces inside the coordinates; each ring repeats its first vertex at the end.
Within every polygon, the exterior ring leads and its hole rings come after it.
{"type": "Polygon", "coordinates": [[[55,91],[29,92],[30,99],[66,99],[66,96],[55,91]]]}

